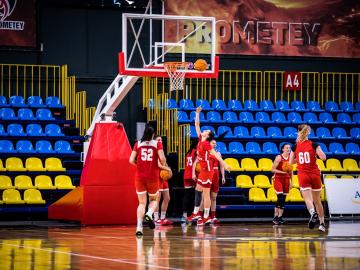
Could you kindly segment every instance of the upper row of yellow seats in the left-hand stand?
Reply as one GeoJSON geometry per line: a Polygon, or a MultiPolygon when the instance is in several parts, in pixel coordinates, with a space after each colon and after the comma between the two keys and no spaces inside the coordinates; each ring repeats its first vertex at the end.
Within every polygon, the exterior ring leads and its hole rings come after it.
{"type": "Polygon", "coordinates": [[[5,161],[5,167],[2,160],[0,160],[0,171],[66,171],[62,166],[61,160],[55,157],[50,157],[45,160],[45,167],[40,158],[30,157],[25,161],[25,167],[22,160],[18,157],[9,157],[5,161]]]}

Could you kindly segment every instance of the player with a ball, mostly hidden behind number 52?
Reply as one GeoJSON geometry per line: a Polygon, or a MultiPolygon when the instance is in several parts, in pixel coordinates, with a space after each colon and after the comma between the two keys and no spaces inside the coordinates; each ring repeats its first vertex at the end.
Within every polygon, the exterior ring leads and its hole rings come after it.
{"type": "MultiPolygon", "coordinates": [[[[156,137],[156,141],[162,143],[161,136],[156,137]]],[[[172,171],[170,167],[165,163],[164,165],[161,164],[160,161],[158,161],[158,166],[160,170],[167,170],[169,173],[172,174],[172,171]]],[[[156,225],[172,225],[173,222],[166,219],[166,211],[170,202],[170,193],[169,193],[169,183],[168,181],[165,181],[161,179],[160,177],[160,171],[158,171],[158,178],[159,178],[159,196],[157,196],[157,204],[154,212],[154,220],[156,225]],[[160,199],[163,198],[161,203],[161,213],[159,218],[159,208],[160,208],[160,199]]]]}

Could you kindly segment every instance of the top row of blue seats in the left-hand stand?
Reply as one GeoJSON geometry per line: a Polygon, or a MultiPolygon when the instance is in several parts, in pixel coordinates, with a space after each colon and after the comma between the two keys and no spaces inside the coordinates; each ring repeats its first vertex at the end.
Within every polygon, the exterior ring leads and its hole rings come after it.
{"type": "Polygon", "coordinates": [[[50,96],[45,99],[45,103],[43,99],[39,96],[30,96],[27,98],[27,102],[25,103],[25,99],[22,96],[11,96],[9,98],[9,103],[6,100],[6,97],[0,96],[0,107],[33,107],[33,108],[61,108],[64,107],[60,99],[55,96],[50,96]]]}

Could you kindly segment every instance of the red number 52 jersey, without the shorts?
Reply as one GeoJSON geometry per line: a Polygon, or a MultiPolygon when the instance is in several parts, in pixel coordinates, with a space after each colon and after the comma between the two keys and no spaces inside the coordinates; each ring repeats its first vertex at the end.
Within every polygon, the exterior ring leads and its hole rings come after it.
{"type": "Polygon", "coordinates": [[[141,179],[158,179],[158,150],[162,150],[161,142],[156,140],[136,142],[133,151],[137,152],[136,177],[141,179]]]}

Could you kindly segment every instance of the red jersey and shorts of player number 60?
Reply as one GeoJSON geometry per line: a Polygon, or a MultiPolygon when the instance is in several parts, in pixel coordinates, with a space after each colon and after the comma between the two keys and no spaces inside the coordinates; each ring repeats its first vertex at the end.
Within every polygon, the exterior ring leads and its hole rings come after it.
{"type": "Polygon", "coordinates": [[[293,147],[301,190],[320,191],[322,188],[320,170],[316,164],[316,148],[318,146],[318,144],[306,140],[296,143],[293,147]]]}

